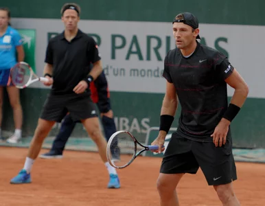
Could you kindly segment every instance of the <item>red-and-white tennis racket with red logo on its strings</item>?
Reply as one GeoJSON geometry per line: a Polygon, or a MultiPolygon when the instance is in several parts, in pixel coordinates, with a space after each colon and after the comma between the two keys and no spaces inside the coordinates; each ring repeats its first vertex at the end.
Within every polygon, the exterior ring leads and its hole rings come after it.
{"type": "Polygon", "coordinates": [[[14,86],[24,89],[34,82],[48,82],[47,78],[38,77],[26,62],[18,62],[10,70],[10,78],[14,86]]]}

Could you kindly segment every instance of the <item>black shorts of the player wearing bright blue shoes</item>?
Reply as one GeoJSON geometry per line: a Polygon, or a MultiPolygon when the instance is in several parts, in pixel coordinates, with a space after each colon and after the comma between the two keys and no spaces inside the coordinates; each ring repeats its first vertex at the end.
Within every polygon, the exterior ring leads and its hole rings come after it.
{"type": "Polygon", "coordinates": [[[73,93],[69,95],[49,94],[43,106],[41,119],[61,122],[67,113],[74,122],[97,117],[96,107],[90,96],[73,93]]]}

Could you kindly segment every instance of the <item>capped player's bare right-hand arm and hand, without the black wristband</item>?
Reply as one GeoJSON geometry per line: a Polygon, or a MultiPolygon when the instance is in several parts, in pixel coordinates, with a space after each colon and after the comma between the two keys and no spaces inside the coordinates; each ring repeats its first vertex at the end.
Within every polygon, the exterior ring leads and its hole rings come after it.
{"type": "MultiPolygon", "coordinates": [[[[249,87],[235,69],[233,73],[231,73],[231,76],[225,80],[225,82],[227,82],[230,87],[235,89],[230,103],[232,105],[238,106],[239,110],[243,106],[246,97],[249,94],[249,87]]],[[[229,119],[222,118],[218,126],[216,126],[214,134],[211,135],[211,137],[214,137],[213,141],[216,147],[222,146],[222,144],[226,143],[230,123],[231,121],[229,121],[229,119]]]]}

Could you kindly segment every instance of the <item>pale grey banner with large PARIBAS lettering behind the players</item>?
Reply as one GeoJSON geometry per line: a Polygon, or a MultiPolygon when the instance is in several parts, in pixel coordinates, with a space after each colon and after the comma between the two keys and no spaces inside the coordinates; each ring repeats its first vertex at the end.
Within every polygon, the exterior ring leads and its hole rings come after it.
{"type": "MultiPolygon", "coordinates": [[[[60,19],[12,19],[12,26],[36,30],[36,71],[42,75],[48,33],[60,33],[60,19]]],[[[80,30],[99,43],[111,91],[164,93],[163,59],[174,48],[172,23],[82,20],[80,30]]],[[[250,87],[250,97],[265,98],[265,27],[200,24],[209,47],[229,55],[231,64],[250,87]]],[[[41,87],[41,84],[34,84],[41,87]]],[[[229,89],[229,95],[233,89],[229,89]]]]}

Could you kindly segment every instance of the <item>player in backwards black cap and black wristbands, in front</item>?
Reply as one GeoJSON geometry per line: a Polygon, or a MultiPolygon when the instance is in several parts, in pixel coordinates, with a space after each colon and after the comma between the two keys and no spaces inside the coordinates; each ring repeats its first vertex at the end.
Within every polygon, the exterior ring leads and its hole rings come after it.
{"type": "Polygon", "coordinates": [[[161,206],[179,205],[176,186],[185,173],[196,174],[199,167],[222,205],[238,206],[232,184],[237,174],[230,124],[246,100],[248,86],[226,56],[196,41],[200,36],[198,19],[193,14],[185,12],[175,17],[173,35],[176,49],[165,56],[166,91],[159,136],[152,143],[159,145],[157,152],[163,151],[161,146],[178,100],[181,116],[157,180],[161,206]],[[235,89],[229,106],[227,84],[235,89]]]}

